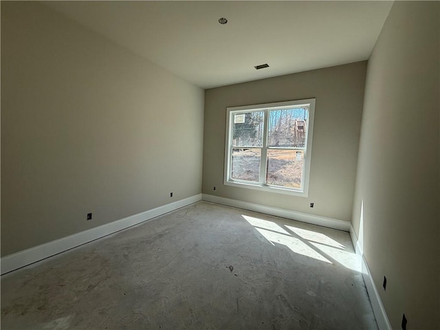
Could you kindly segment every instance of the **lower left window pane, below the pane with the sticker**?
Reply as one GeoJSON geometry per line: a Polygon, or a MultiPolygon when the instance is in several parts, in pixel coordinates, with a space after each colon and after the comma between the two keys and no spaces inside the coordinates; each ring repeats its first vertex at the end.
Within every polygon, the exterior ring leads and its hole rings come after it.
{"type": "Polygon", "coordinates": [[[232,148],[232,179],[259,182],[260,159],[259,148],[232,148]]]}

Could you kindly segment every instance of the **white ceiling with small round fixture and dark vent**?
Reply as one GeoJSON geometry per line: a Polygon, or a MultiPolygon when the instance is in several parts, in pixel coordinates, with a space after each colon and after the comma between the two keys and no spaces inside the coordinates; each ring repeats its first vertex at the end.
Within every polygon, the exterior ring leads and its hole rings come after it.
{"type": "Polygon", "coordinates": [[[203,88],[369,58],[393,1],[45,1],[203,88]],[[228,23],[220,25],[225,17],[228,23]],[[256,70],[254,65],[270,67],[256,70]]]}

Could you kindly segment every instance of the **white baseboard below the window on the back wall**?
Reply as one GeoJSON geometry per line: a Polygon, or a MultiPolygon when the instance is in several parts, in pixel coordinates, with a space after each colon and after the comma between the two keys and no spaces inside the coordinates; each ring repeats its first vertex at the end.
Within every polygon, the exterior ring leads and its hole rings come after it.
{"type": "Polygon", "coordinates": [[[208,194],[202,195],[203,201],[211,201],[212,203],[223,204],[232,206],[234,208],[243,208],[244,210],[250,210],[255,212],[261,212],[265,214],[274,215],[276,217],[283,217],[296,221],[311,223],[314,225],[322,225],[323,227],[344,230],[348,232],[350,230],[350,223],[338,219],[332,219],[327,217],[320,217],[318,215],[307,214],[302,212],[296,212],[291,210],[285,210],[283,208],[272,208],[271,206],[265,206],[256,203],[249,203],[248,201],[237,201],[235,199],[229,199],[224,197],[218,197],[208,194]]]}

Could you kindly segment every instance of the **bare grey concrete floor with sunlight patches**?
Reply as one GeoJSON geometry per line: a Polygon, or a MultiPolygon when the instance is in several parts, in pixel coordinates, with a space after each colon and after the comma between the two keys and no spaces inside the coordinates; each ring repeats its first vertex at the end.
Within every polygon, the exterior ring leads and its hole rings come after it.
{"type": "Polygon", "coordinates": [[[199,202],[1,277],[1,329],[377,329],[347,232],[199,202]]]}

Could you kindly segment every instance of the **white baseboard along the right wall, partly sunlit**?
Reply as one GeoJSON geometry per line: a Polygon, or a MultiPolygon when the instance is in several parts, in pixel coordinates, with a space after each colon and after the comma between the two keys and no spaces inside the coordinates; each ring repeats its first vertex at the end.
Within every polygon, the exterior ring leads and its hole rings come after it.
{"type": "Polygon", "coordinates": [[[380,298],[377,287],[374,284],[373,277],[371,277],[369,265],[366,263],[364,251],[359,244],[358,236],[356,236],[352,225],[350,225],[350,237],[353,247],[356,250],[356,254],[360,259],[362,259],[362,277],[364,278],[366,291],[369,293],[371,307],[373,308],[377,327],[379,327],[380,330],[391,330],[391,323],[386,315],[384,305],[382,304],[382,299],[380,298]]]}

